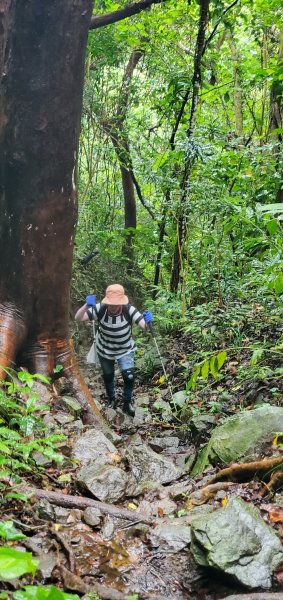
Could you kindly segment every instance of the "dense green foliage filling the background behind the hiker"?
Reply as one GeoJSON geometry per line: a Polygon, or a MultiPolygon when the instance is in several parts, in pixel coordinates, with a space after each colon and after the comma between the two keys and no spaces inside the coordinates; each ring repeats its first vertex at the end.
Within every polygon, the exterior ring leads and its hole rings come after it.
{"type": "Polygon", "coordinates": [[[208,2],[196,73],[204,4],[169,0],[89,36],[77,298],[119,279],[176,320],[208,301],[280,304],[282,6],[208,2]]]}

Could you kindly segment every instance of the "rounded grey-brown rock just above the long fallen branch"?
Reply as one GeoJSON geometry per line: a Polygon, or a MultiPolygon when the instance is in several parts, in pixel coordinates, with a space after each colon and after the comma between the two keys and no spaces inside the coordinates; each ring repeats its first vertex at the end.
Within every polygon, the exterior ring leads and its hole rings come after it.
{"type": "Polygon", "coordinates": [[[79,471],[77,481],[102,502],[117,502],[125,495],[128,477],[118,467],[90,464],[79,471]]]}

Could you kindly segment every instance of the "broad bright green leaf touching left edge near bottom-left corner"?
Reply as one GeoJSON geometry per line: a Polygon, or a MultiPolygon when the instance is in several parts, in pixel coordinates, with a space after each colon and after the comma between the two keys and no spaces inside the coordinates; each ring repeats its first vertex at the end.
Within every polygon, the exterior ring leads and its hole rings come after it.
{"type": "Polygon", "coordinates": [[[25,573],[34,575],[39,560],[31,552],[18,552],[12,548],[0,548],[0,578],[3,581],[16,579],[25,573]]]}

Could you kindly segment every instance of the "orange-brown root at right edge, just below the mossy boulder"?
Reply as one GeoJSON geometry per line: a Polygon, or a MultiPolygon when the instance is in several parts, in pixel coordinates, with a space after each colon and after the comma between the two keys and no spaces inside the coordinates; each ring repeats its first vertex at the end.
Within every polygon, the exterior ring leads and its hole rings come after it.
{"type": "Polygon", "coordinates": [[[283,458],[276,456],[273,458],[264,458],[251,463],[233,464],[226,469],[221,469],[210,481],[208,485],[221,479],[230,479],[232,481],[249,481],[255,473],[266,473],[274,469],[282,469],[283,458]]]}

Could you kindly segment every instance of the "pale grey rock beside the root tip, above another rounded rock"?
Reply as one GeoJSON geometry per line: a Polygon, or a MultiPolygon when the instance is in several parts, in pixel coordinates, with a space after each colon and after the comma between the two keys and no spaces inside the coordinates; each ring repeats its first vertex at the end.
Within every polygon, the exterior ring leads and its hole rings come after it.
{"type": "MultiPolygon", "coordinates": [[[[105,458],[105,461],[107,461],[109,453],[117,453],[114,444],[101,431],[89,429],[89,431],[77,439],[73,447],[72,456],[82,465],[87,465],[89,462],[101,458],[105,458]]],[[[109,457],[108,461],[111,462],[109,457]]]]}

